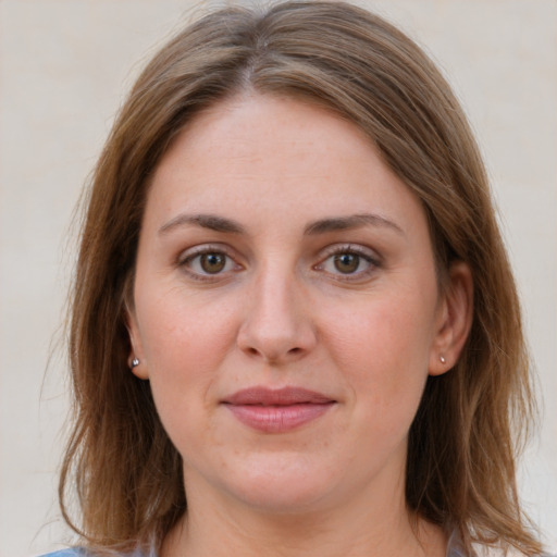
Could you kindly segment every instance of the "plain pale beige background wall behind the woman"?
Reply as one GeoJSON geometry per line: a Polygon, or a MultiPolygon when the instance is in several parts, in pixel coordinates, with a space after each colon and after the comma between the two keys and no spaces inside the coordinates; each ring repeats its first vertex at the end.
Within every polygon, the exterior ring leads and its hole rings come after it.
{"type": "MultiPolygon", "coordinates": [[[[545,397],[521,493],[557,549],[557,1],[362,3],[426,46],[478,132],[545,397]]],[[[0,0],[0,557],[67,541],[55,503],[67,413],[57,343],[72,211],[141,60],[188,10],[177,0],[0,0]]]]}

